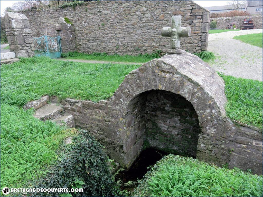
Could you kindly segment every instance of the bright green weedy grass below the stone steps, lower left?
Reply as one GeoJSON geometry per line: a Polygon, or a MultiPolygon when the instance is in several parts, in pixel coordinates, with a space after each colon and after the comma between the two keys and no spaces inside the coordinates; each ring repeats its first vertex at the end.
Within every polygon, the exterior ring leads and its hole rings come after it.
{"type": "Polygon", "coordinates": [[[28,187],[55,161],[61,141],[73,135],[74,130],[32,114],[1,101],[1,189],[28,187]]]}

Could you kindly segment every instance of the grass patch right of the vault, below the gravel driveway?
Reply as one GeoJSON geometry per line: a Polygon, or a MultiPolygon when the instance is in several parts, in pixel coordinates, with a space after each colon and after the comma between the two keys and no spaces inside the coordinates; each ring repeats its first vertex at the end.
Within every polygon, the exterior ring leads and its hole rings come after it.
{"type": "Polygon", "coordinates": [[[262,81],[220,74],[225,81],[226,114],[239,122],[262,128],[262,81]]]}

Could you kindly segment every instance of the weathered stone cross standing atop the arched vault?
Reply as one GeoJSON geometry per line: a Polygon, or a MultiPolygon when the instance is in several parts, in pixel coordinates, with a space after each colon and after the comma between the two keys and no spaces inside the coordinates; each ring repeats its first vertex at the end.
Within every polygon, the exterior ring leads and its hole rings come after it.
{"type": "MultiPolygon", "coordinates": [[[[172,16],[171,27],[163,27],[161,30],[162,36],[171,37],[171,49],[169,51],[176,51],[180,48],[181,37],[189,37],[191,33],[190,27],[181,27],[181,16],[172,16]]],[[[170,52],[169,52],[170,53],[170,52]]]]}

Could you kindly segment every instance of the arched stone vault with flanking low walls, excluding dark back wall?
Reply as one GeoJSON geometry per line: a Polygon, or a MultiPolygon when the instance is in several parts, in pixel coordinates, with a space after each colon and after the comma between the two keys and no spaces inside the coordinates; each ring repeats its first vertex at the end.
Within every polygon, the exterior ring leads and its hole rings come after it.
{"type": "Polygon", "coordinates": [[[66,99],[63,104],[77,126],[90,131],[112,159],[129,168],[145,141],[145,116],[138,113],[145,108],[137,106],[143,106],[142,96],[153,90],[180,95],[194,107],[201,128],[197,159],[262,173],[262,134],[236,127],[226,117],[224,81],[208,64],[185,51],[131,71],[108,101],[66,99]]]}

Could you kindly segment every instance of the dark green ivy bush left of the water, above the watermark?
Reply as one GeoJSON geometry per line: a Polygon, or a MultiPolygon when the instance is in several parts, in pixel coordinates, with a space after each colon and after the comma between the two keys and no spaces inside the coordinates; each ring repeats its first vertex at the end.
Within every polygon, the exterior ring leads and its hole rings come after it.
{"type": "MultiPolygon", "coordinates": [[[[72,143],[65,144],[57,163],[39,180],[37,188],[83,188],[73,196],[113,196],[117,188],[110,174],[109,158],[102,146],[87,131],[80,131],[72,143]]],[[[39,195],[39,194],[36,194],[39,195]]],[[[61,193],[42,193],[59,196],[61,193]]]]}

